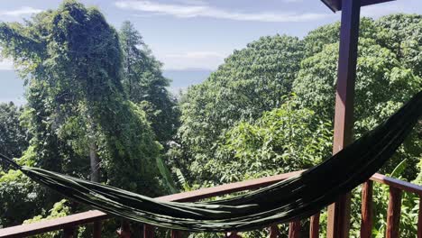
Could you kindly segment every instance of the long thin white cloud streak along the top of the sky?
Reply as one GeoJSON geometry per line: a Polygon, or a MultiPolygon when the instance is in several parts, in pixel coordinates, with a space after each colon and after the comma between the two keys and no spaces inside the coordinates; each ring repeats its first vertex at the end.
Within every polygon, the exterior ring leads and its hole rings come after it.
{"type": "MultiPolygon", "coordinates": [[[[191,0],[190,0],[191,1],[191,0]]],[[[186,3],[186,0],[184,1],[186,3]]],[[[213,7],[201,3],[189,5],[161,4],[151,1],[117,1],[115,5],[122,9],[137,10],[154,14],[166,14],[179,18],[209,17],[235,21],[254,21],[272,23],[307,22],[325,18],[328,14],[315,13],[241,13],[213,7]]]]}

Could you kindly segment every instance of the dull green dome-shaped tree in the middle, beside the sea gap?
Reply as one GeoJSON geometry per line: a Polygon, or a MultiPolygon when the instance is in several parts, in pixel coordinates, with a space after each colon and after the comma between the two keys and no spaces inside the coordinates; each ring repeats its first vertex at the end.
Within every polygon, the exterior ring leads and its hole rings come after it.
{"type": "MultiPolygon", "coordinates": [[[[296,78],[302,48],[297,38],[262,37],[235,50],[203,84],[190,87],[183,96],[178,132],[186,164],[205,164],[226,130],[280,106],[296,78]]],[[[195,171],[191,175],[197,177],[195,171]]]]}

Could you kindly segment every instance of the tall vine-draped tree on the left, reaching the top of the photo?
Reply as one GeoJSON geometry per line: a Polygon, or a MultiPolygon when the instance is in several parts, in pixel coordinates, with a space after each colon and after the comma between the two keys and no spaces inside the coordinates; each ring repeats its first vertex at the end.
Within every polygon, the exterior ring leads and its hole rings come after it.
{"type": "Polygon", "coordinates": [[[161,145],[124,92],[118,34],[96,8],[65,1],[23,24],[1,23],[0,45],[28,87],[23,124],[34,137],[20,163],[87,178],[94,153],[101,181],[163,192],[161,145]]]}

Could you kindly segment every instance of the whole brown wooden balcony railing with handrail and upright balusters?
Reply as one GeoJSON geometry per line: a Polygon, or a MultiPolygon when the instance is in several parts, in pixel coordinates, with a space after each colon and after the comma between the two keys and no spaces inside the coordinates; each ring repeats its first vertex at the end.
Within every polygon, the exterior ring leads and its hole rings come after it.
{"type": "MultiPolygon", "coordinates": [[[[268,178],[258,178],[243,182],[226,184],[214,188],[203,188],[196,191],[174,194],[165,197],[158,197],[163,201],[178,201],[178,202],[192,202],[204,198],[223,196],[234,192],[252,190],[262,188],[276,183],[280,180],[298,175],[301,171],[271,176],[268,178]]],[[[396,179],[389,178],[381,174],[375,174],[372,178],[362,185],[362,224],[361,224],[361,237],[369,238],[372,236],[372,186],[373,182],[381,183],[390,187],[389,206],[387,213],[387,238],[399,237],[399,219],[400,219],[400,206],[402,192],[414,193],[422,197],[422,187],[396,179]]],[[[12,227],[7,227],[0,230],[0,237],[25,237],[39,233],[47,233],[51,231],[63,230],[64,237],[74,237],[75,229],[78,225],[83,224],[96,224],[93,237],[101,236],[101,229],[99,227],[100,221],[112,218],[100,211],[88,211],[75,215],[68,215],[57,219],[42,221],[34,224],[22,224],[12,227]]],[[[270,237],[279,237],[279,228],[276,224],[269,227],[270,237]]],[[[302,227],[300,221],[292,222],[289,224],[289,237],[300,237],[302,227]]],[[[309,237],[319,237],[319,215],[314,215],[309,223],[309,237]]],[[[181,237],[179,231],[171,231],[172,238],[181,237]]],[[[154,227],[151,225],[144,225],[143,237],[154,237],[154,227]]],[[[225,237],[240,237],[235,231],[226,233],[225,237]]],[[[417,222],[417,237],[422,238],[422,202],[419,205],[419,214],[417,222]]]]}

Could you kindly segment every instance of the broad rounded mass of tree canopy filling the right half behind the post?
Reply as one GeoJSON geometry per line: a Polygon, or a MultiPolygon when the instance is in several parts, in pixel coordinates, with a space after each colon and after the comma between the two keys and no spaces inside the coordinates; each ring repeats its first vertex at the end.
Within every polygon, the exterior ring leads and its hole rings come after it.
{"type": "MultiPolygon", "coordinates": [[[[420,58],[415,50],[421,47],[420,23],[420,15],[411,14],[394,14],[378,20],[362,18],[355,96],[356,136],[381,123],[421,90],[420,58]],[[404,23],[406,26],[400,27],[404,23]]],[[[193,172],[193,181],[197,179],[202,183],[211,179],[218,182],[224,173],[221,170],[230,173],[229,168],[236,167],[235,161],[241,151],[244,152],[242,161],[252,163],[254,159],[244,151],[250,143],[243,137],[249,133],[247,138],[264,138],[252,133],[262,129],[263,125],[258,122],[263,119],[258,118],[266,111],[281,110],[283,96],[291,92],[297,93],[300,108],[315,112],[323,122],[332,123],[339,27],[339,23],[322,26],[309,32],[303,40],[279,35],[263,37],[243,50],[235,50],[203,84],[188,89],[181,100],[179,147],[175,150],[175,157],[184,160],[179,161],[179,166],[193,172]],[[234,147],[241,142],[244,147],[234,147]],[[233,147],[229,157],[222,153],[227,151],[228,145],[233,147]]],[[[291,109],[289,113],[296,114],[296,111],[291,109]]],[[[272,123],[277,124],[277,117],[271,118],[272,123]]],[[[295,125],[289,124],[290,127],[295,125]]],[[[332,130],[332,127],[326,124],[326,129],[332,130]]],[[[420,132],[420,128],[417,130],[420,132]]],[[[282,140],[281,134],[276,135],[272,140],[282,140]]],[[[306,142],[307,137],[302,140],[306,142]]],[[[409,159],[408,178],[415,178],[420,143],[420,133],[419,137],[414,134],[384,171],[390,171],[401,160],[409,159]]],[[[267,150],[267,143],[258,144],[260,146],[251,147],[255,151],[252,154],[267,150]]],[[[303,150],[300,146],[292,144],[291,148],[303,150]]],[[[325,150],[322,154],[331,151],[328,147],[325,150]]],[[[282,151],[270,151],[277,156],[283,154],[282,151]]],[[[279,158],[277,156],[275,158],[279,158]]],[[[307,156],[302,156],[297,160],[307,160],[307,156]]],[[[243,162],[239,162],[240,170],[234,174],[248,171],[249,167],[243,166],[243,162]]],[[[271,162],[268,167],[262,165],[267,169],[255,171],[271,171],[268,169],[270,165],[271,162]]],[[[306,167],[305,163],[302,165],[306,167]]]]}

